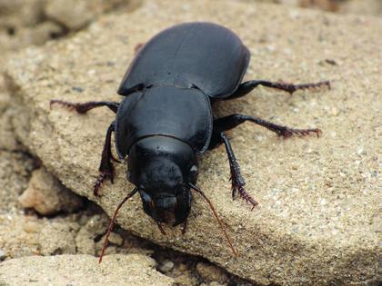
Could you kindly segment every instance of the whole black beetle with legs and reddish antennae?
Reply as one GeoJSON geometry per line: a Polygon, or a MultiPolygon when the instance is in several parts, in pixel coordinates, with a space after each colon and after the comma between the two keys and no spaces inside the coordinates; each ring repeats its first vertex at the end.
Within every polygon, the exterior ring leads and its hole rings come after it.
{"type": "MultiPolygon", "coordinates": [[[[173,226],[184,222],[185,232],[192,201],[190,190],[199,192],[206,199],[196,187],[197,154],[221,143],[226,146],[229,160],[232,196],[238,192],[246,202],[256,206],[257,202],[244,188],[246,182],[226,137],[227,130],[248,121],[284,137],[320,133],[316,128],[293,129],[244,114],[213,117],[212,103],[244,96],[257,85],[290,94],[299,89],[330,88],[328,82],[241,83],[249,58],[246,46],[226,27],[211,23],[176,25],[154,36],[137,51],[117,91],[126,96],[121,103],[51,101],[51,104],[63,104],[78,113],[86,113],[99,106],[107,106],[116,113],[116,120],[107,129],[94,192],[98,195],[105,179],[113,182],[111,161],[116,160],[111,153],[113,132],[119,158],[128,157],[127,179],[136,187],[118,205],[109,224],[106,241],[119,208],[136,192],[141,196],[145,212],[157,222],[161,232],[164,233],[161,222],[172,222],[173,226]]],[[[206,200],[225,232],[211,202],[206,200]]],[[[226,239],[236,254],[227,235],[226,239]]],[[[100,261],[105,247],[106,244],[100,261]]]]}

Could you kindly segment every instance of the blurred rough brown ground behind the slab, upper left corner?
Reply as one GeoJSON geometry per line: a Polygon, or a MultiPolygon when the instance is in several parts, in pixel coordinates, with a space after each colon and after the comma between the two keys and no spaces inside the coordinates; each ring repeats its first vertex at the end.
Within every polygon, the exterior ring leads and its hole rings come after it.
{"type": "MultiPolygon", "coordinates": [[[[0,52],[68,35],[111,10],[131,11],[141,0],[0,0],[0,52]]],[[[0,62],[1,62],[0,58],[0,62]]]]}

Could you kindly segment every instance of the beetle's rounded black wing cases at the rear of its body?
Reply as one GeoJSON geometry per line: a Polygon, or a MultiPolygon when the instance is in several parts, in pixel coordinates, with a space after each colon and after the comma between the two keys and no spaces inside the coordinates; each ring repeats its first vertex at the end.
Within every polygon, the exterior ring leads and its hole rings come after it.
{"type": "Polygon", "coordinates": [[[136,84],[196,86],[214,98],[236,91],[250,54],[240,38],[221,25],[186,23],[154,36],[136,54],[118,94],[136,84]]]}

